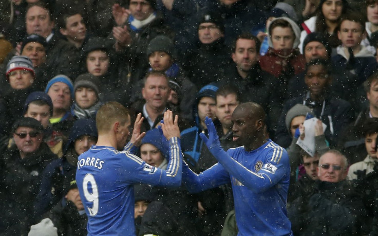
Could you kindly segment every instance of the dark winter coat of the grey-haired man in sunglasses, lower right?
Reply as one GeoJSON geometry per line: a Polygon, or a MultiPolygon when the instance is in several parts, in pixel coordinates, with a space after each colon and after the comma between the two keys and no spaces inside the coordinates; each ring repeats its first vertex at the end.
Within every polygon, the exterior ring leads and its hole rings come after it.
{"type": "Polygon", "coordinates": [[[346,180],[318,181],[288,209],[294,235],[362,235],[358,230],[365,215],[360,195],[346,180]]]}

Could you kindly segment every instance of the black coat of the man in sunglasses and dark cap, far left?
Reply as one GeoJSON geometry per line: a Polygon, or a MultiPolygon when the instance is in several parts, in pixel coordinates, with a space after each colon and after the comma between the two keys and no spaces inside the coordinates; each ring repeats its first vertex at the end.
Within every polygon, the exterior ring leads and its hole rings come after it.
{"type": "MultiPolygon", "coordinates": [[[[7,150],[0,162],[1,209],[0,232],[20,235],[35,224],[34,201],[41,185],[42,172],[49,162],[56,159],[49,147],[42,142],[40,148],[30,156],[21,158],[17,147],[7,150]]],[[[26,231],[27,232],[27,231],[26,231]]]]}

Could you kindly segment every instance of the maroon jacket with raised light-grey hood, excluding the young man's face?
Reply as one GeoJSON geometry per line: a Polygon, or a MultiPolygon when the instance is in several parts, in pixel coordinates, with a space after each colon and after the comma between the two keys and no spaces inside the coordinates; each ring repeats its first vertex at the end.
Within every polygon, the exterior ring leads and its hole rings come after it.
{"type": "Polygon", "coordinates": [[[272,23],[278,19],[282,19],[290,23],[295,34],[293,47],[292,49],[275,50],[273,48],[271,35],[268,35],[269,49],[267,54],[260,58],[259,64],[263,70],[269,72],[273,76],[277,78],[282,77],[283,81],[281,81],[281,83],[286,83],[286,80],[305,70],[306,60],[298,50],[300,30],[294,21],[287,17],[276,18],[270,23],[268,32],[270,31],[272,23]]]}

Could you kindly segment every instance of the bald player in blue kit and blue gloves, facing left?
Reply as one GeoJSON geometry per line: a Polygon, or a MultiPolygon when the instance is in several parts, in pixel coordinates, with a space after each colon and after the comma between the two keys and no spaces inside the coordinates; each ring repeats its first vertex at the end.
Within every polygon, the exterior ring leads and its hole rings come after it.
{"type": "Polygon", "coordinates": [[[292,235],[286,214],[290,165],[285,149],[264,132],[266,113],[253,102],[242,103],[232,114],[233,141],[241,147],[225,152],[215,126],[205,119],[209,138],[200,134],[218,163],[200,174],[187,165],[182,180],[191,193],[231,181],[238,235],[292,235]]]}

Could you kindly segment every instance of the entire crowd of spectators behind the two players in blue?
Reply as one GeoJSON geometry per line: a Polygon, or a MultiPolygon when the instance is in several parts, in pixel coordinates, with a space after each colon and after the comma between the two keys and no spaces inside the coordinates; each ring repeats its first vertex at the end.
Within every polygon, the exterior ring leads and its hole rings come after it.
{"type": "MultiPolygon", "coordinates": [[[[109,101],[142,114],[140,157],[162,169],[156,127],[179,115],[196,173],[216,163],[204,118],[235,148],[234,109],[260,104],[266,138],[289,154],[294,235],[376,235],[377,47],[378,0],[4,0],[0,235],[86,235],[74,173],[109,101]]],[[[231,185],[137,185],[135,225],[236,235],[231,185]]]]}

